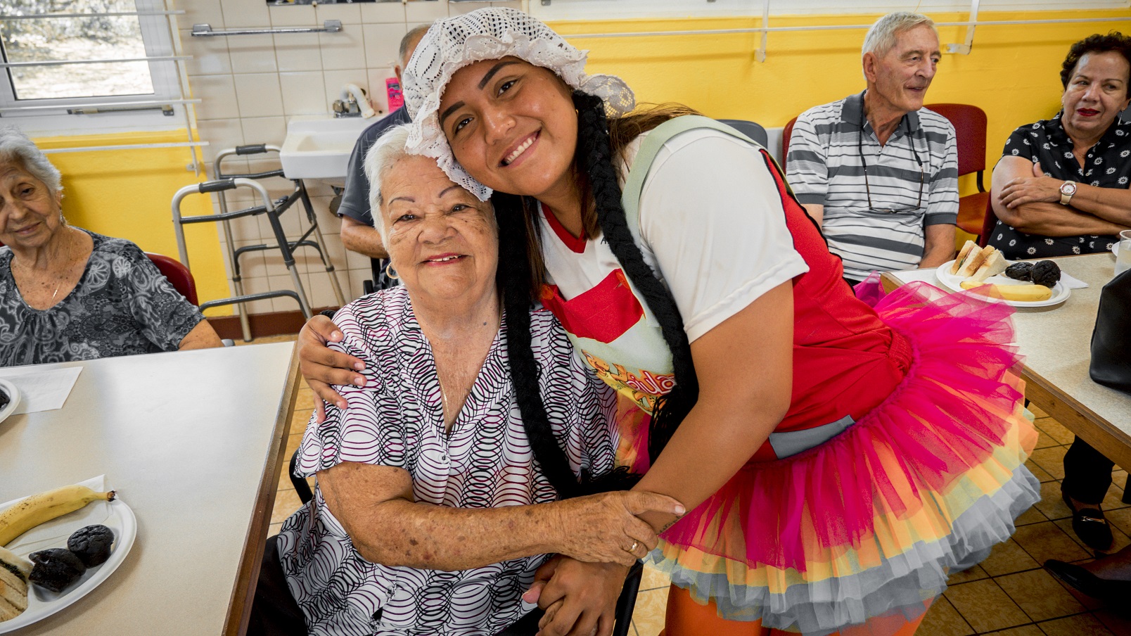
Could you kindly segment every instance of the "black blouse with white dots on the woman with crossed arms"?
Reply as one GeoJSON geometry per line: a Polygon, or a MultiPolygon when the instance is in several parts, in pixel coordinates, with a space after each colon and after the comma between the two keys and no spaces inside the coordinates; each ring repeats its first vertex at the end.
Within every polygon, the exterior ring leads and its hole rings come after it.
{"type": "MultiPolygon", "coordinates": [[[[1053,179],[1076,181],[1097,188],[1126,189],[1131,180],[1131,122],[1116,118],[1095,146],[1088,149],[1083,165],[1072,154],[1072,140],[1064,132],[1061,115],[1022,126],[1005,140],[1002,156],[1025,157],[1053,179]]],[[[998,220],[990,232],[990,244],[1005,258],[1047,258],[1110,250],[1119,241],[1115,234],[1043,237],[1026,234],[998,220]]]]}

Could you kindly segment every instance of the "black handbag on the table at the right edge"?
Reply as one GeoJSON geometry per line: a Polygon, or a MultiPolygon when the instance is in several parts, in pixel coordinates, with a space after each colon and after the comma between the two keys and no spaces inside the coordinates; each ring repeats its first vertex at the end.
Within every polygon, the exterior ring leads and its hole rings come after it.
{"type": "Polygon", "coordinates": [[[1097,384],[1131,393],[1131,269],[1099,292],[1096,328],[1091,332],[1091,366],[1097,384]]]}

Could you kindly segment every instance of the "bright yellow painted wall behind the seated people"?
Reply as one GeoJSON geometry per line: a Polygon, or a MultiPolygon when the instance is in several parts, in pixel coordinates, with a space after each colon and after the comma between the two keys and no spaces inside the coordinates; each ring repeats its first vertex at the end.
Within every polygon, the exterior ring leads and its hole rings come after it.
{"type": "MultiPolygon", "coordinates": [[[[870,24],[878,16],[772,17],[770,26],[870,24]]],[[[965,14],[935,14],[960,22],[965,14]]],[[[992,166],[1009,132],[1048,118],[1059,108],[1059,69],[1069,45],[1091,33],[1131,33],[1131,11],[982,12],[983,20],[1029,18],[1123,18],[1116,23],[981,26],[969,55],[943,55],[927,102],[976,104],[990,119],[987,161],[992,166]]],[[[736,28],[758,18],[606,20],[554,24],[563,34],[736,28]]],[[[965,27],[940,28],[942,43],[964,42],[965,27]]],[[[589,49],[589,71],[623,77],[642,102],[682,102],[717,118],[784,126],[810,106],[861,91],[863,29],[772,33],[765,62],[754,59],[757,34],[576,40],[589,49]]],[[[180,141],[180,134],[45,138],[43,147],[180,141]]],[[[184,148],[52,155],[63,173],[63,209],[76,225],[135,241],[143,249],[176,253],[170,200],[180,187],[200,181],[185,171],[184,148]]],[[[988,180],[987,180],[988,183],[988,180]]],[[[960,182],[964,194],[973,179],[960,182]]],[[[210,212],[202,196],[187,200],[187,214],[210,212]]],[[[201,301],[228,294],[223,255],[211,224],[188,227],[192,270],[201,301]]],[[[216,313],[226,313],[223,308],[216,313]]]]}

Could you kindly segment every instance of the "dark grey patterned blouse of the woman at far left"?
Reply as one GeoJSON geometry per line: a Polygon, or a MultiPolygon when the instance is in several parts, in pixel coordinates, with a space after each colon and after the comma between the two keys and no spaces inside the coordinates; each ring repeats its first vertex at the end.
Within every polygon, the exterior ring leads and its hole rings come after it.
{"type": "Polygon", "coordinates": [[[50,309],[24,302],[11,248],[0,248],[0,367],[176,351],[205,319],[136,244],[83,231],[94,251],[50,309]]]}

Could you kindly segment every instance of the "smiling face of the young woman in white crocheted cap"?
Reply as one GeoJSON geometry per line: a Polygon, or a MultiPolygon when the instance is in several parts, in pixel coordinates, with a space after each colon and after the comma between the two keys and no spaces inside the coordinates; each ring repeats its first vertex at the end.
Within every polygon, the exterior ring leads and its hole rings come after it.
{"type": "Polygon", "coordinates": [[[576,188],[577,112],[553,71],[518,58],[484,60],[451,77],[440,128],[480,183],[543,198],[576,188]]]}

